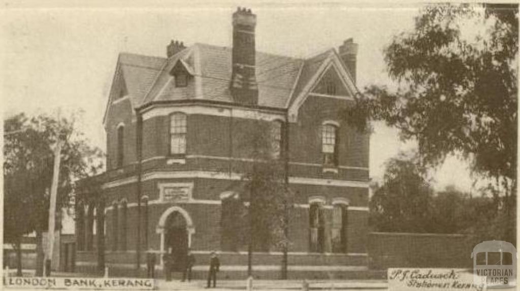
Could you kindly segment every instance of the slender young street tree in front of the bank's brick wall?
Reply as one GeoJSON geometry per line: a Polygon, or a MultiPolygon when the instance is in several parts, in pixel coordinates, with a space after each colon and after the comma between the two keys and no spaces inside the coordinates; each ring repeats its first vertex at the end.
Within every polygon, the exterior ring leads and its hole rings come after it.
{"type": "MultiPolygon", "coordinates": [[[[251,167],[243,180],[249,193],[248,210],[248,273],[252,274],[253,250],[268,251],[271,247],[287,252],[289,244],[289,205],[293,205],[292,195],[287,183],[287,152],[283,140],[283,126],[273,127],[265,121],[256,122],[251,137],[246,140],[251,167]],[[276,138],[278,135],[280,138],[276,138]]],[[[282,260],[282,279],[286,279],[287,258],[282,260]]]]}

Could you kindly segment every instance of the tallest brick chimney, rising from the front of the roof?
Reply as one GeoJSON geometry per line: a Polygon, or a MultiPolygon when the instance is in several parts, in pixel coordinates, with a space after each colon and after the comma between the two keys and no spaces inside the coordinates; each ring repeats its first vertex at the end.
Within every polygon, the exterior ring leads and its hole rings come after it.
{"type": "Polygon", "coordinates": [[[233,100],[256,105],[258,86],[255,76],[256,15],[251,9],[238,7],[233,13],[233,49],[231,55],[231,82],[233,100]]]}

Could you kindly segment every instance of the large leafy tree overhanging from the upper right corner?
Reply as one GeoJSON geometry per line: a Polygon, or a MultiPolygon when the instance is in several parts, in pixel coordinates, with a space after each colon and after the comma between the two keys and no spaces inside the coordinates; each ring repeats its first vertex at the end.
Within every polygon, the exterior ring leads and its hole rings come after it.
{"type": "Polygon", "coordinates": [[[460,153],[475,174],[515,195],[518,5],[428,5],[384,54],[399,90],[367,87],[346,112],[349,122],[399,128],[418,141],[424,165],[460,153]],[[469,35],[468,25],[482,32],[469,35]]]}

